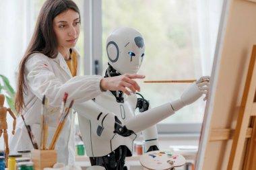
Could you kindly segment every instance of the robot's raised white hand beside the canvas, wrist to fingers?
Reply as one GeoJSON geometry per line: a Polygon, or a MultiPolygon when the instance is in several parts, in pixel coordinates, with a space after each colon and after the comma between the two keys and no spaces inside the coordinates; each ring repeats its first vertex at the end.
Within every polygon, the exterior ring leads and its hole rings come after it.
{"type": "Polygon", "coordinates": [[[189,105],[199,99],[201,95],[205,94],[205,99],[207,99],[207,93],[210,85],[210,77],[205,76],[198,79],[195,83],[192,83],[189,88],[187,88],[183,95],[181,95],[181,101],[185,105],[189,105]]]}

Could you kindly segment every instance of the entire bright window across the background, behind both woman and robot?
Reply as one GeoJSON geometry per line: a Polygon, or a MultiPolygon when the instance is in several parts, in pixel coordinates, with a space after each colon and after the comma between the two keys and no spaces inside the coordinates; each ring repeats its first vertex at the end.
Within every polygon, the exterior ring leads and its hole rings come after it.
{"type": "MultiPolygon", "coordinates": [[[[99,63],[98,73],[104,72],[106,38],[121,26],[133,27],[143,34],[146,56],[139,73],[146,75],[147,80],[197,79],[210,75],[223,0],[74,1],[82,15],[77,48],[84,57],[85,75],[96,73],[94,60],[99,63]]],[[[0,74],[8,77],[13,87],[18,63],[43,3],[44,0],[1,1],[0,74]]],[[[150,100],[152,108],[177,99],[188,85],[139,83],[141,94],[150,100]]],[[[200,99],[162,124],[201,123],[204,107],[205,102],[200,99]]],[[[12,124],[9,116],[7,121],[12,124]]]]}

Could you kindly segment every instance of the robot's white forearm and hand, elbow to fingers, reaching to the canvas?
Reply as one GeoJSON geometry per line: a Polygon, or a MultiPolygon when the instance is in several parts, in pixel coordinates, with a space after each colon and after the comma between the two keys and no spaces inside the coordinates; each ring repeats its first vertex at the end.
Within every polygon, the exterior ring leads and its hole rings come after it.
{"type": "Polygon", "coordinates": [[[210,77],[201,77],[195,83],[192,83],[188,89],[186,89],[181,95],[180,99],[176,101],[172,101],[170,103],[165,103],[163,105],[158,106],[157,108],[153,108],[133,118],[127,120],[125,122],[125,126],[129,130],[133,130],[133,132],[137,133],[154,124],[164,120],[168,116],[174,114],[175,111],[180,110],[185,105],[189,105],[196,101],[201,95],[206,94],[205,99],[207,98],[207,91],[209,89],[210,77]]]}

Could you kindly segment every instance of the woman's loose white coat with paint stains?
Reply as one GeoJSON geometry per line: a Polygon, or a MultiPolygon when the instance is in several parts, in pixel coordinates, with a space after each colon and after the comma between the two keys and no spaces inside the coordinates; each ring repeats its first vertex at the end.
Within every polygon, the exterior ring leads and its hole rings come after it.
{"type": "MultiPolygon", "coordinates": [[[[77,58],[79,62],[79,56],[77,58]]],[[[77,68],[77,71],[79,71],[79,68],[77,68]]],[[[24,93],[24,102],[26,110],[22,114],[26,124],[31,126],[38,145],[40,144],[40,110],[43,95],[45,94],[49,99],[49,132],[47,140],[47,146],[49,146],[57,127],[59,107],[64,93],[67,92],[69,94],[67,105],[69,105],[71,99],[74,99],[73,108],[77,108],[77,110],[75,109],[77,112],[82,112],[84,110],[83,103],[101,93],[100,79],[102,77],[98,75],[72,77],[61,53],[54,59],[48,58],[41,53],[30,56],[26,62],[25,69],[27,90],[24,93]]],[[[66,165],[74,165],[75,163],[74,123],[74,114],[69,114],[55,146],[58,155],[57,161],[66,165]]],[[[17,128],[10,141],[9,148],[10,153],[33,148],[21,116],[17,119],[17,128]]]]}

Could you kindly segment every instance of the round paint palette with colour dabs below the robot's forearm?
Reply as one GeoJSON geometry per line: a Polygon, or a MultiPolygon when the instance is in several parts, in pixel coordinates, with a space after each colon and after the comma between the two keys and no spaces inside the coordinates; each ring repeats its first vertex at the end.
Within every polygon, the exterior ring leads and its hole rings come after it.
{"type": "Polygon", "coordinates": [[[148,169],[172,169],[185,165],[182,155],[171,151],[151,151],[140,157],[140,163],[148,169]]]}

